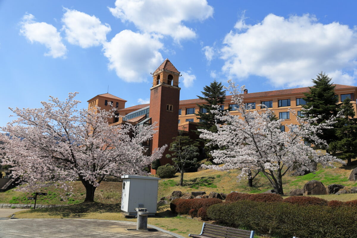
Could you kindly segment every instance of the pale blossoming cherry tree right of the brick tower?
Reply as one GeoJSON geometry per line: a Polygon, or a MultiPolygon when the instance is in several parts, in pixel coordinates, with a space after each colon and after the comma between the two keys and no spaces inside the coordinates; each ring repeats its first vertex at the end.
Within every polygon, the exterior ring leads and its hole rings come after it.
{"type": "Polygon", "coordinates": [[[331,128],[335,118],[316,125],[314,122],[318,117],[297,116],[295,111],[289,108],[291,116],[297,118],[298,125],[286,125],[288,130],[282,131],[280,126],[284,125],[283,119],[271,120],[274,112],[264,105],[260,110],[252,110],[252,107],[243,101],[245,87],[239,88],[232,80],[228,83],[226,89],[233,95],[232,103],[236,103],[239,114],[232,115],[229,111],[222,112],[213,108],[216,120],[225,123],[217,123],[217,132],[200,130],[200,137],[210,140],[209,144],[220,148],[212,151],[211,155],[215,163],[224,164],[205,167],[222,171],[239,168],[241,173],[238,178],[249,176],[251,170],[260,171],[268,178],[276,193],[283,194],[282,178],[288,171],[312,172],[312,161],[321,163],[324,167],[333,167],[333,162],[344,163],[328,153],[314,150],[303,141],[305,138],[313,141],[315,145],[326,145],[316,134],[324,128],[331,128]]]}

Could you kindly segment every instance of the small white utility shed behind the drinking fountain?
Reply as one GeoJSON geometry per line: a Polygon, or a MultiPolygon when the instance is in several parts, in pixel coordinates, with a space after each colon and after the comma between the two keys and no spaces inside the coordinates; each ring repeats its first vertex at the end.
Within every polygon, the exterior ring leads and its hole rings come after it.
{"type": "Polygon", "coordinates": [[[147,208],[149,216],[154,216],[157,208],[157,188],[160,178],[124,174],[121,195],[121,211],[136,215],[135,208],[147,208]]]}

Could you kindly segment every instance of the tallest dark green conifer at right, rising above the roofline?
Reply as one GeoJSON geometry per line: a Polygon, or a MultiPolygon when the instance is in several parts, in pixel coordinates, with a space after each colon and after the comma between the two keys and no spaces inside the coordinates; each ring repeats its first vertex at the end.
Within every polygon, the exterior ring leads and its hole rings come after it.
{"type": "MultiPolygon", "coordinates": [[[[330,119],[331,116],[336,116],[341,104],[338,103],[338,97],[335,95],[335,85],[331,82],[331,78],[325,73],[317,75],[313,79],[313,87],[310,87],[309,93],[304,93],[306,105],[304,108],[312,109],[305,113],[307,117],[316,117],[321,115],[321,118],[316,123],[320,124],[330,119]]],[[[335,128],[323,129],[321,134],[317,135],[320,139],[325,140],[330,144],[335,137],[335,128]]]]}

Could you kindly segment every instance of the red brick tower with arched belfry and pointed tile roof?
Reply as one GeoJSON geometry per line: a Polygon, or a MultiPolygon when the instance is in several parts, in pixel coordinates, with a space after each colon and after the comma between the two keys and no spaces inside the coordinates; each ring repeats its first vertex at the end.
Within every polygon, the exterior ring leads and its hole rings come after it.
{"type": "MultiPolygon", "coordinates": [[[[150,112],[152,123],[157,122],[159,126],[152,138],[151,151],[163,145],[167,148],[160,159],[160,164],[172,163],[171,159],[165,157],[169,152],[172,138],[177,136],[178,127],[178,107],[180,102],[180,90],[178,87],[178,77],[180,72],[175,68],[169,59],[166,59],[152,74],[154,77],[152,88],[150,88],[150,112]]],[[[151,173],[156,174],[154,169],[151,173]]]]}

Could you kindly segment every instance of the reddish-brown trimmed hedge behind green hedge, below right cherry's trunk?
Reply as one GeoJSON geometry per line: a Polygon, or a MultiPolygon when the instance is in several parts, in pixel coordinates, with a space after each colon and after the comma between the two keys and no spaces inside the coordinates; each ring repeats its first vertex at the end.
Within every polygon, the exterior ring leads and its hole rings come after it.
{"type": "Polygon", "coordinates": [[[273,193],[246,194],[236,192],[232,192],[226,197],[226,202],[236,202],[242,200],[251,200],[256,202],[282,202],[283,198],[279,194],[273,193]]]}

